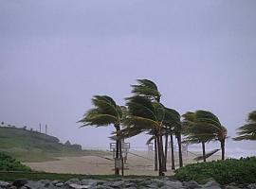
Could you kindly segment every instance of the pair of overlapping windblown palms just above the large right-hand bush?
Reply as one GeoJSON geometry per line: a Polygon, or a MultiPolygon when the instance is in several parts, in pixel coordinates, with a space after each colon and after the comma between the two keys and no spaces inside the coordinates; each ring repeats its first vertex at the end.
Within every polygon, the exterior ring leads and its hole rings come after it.
{"type": "Polygon", "coordinates": [[[201,110],[187,112],[183,117],[185,135],[187,135],[185,142],[202,143],[203,157],[205,157],[205,143],[210,142],[211,140],[217,140],[221,143],[222,160],[224,160],[227,129],[221,125],[218,117],[212,112],[201,110]]]}

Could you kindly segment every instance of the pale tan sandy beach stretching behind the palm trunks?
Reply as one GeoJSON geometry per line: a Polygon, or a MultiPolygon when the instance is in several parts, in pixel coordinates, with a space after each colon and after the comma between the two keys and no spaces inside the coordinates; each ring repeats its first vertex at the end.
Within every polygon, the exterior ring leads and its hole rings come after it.
{"type": "MultiPolygon", "coordinates": [[[[196,163],[193,160],[195,154],[200,152],[184,153],[184,164],[196,163]]],[[[171,170],[171,153],[168,154],[166,175],[173,175],[171,170]]],[[[150,175],[156,176],[154,171],[154,153],[148,151],[131,151],[127,156],[127,163],[124,164],[125,175],[150,175]]],[[[175,165],[178,166],[178,155],[175,153],[175,165]]],[[[208,161],[220,159],[220,156],[213,155],[208,161]]],[[[88,175],[106,175],[114,173],[113,156],[82,156],[82,157],[62,157],[58,161],[44,163],[26,163],[33,170],[46,171],[52,173],[72,173],[88,175]]]]}

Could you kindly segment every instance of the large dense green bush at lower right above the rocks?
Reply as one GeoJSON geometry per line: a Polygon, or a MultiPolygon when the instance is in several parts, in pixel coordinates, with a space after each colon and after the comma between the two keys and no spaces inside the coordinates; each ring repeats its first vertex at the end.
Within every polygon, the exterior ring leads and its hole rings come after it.
{"type": "Polygon", "coordinates": [[[177,169],[174,176],[178,180],[198,182],[212,178],[220,184],[255,183],[256,157],[189,164],[177,169]]]}

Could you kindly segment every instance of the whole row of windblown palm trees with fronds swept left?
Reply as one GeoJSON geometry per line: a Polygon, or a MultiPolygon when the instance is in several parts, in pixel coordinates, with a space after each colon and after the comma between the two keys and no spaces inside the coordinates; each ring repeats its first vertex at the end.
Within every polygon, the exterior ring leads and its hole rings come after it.
{"type": "MultiPolygon", "coordinates": [[[[221,144],[222,159],[225,159],[225,141],[227,129],[221,125],[218,117],[212,112],[196,111],[186,112],[182,116],[174,109],[161,103],[161,94],[156,84],[148,79],[137,79],[137,85],[131,85],[132,96],[125,98],[125,106],[119,106],[107,95],[95,95],[92,98],[94,108],[85,112],[82,119],[82,127],[113,125],[112,133],[116,141],[116,160],[122,159],[121,140],[146,132],[151,135],[148,143],[155,141],[155,170],[159,176],[164,175],[167,163],[167,144],[171,140],[172,169],[174,165],[174,137],[178,144],[179,166],[183,166],[182,143],[201,143],[203,147],[203,159],[206,161],[205,144],[217,140],[221,144]],[[182,135],[184,140],[182,141],[182,135]],[[165,139],[165,145],[164,144],[165,139]],[[164,148],[165,147],[165,148],[164,148]]],[[[254,120],[255,112],[251,115],[254,120]]],[[[251,125],[249,122],[248,125],[251,125]]],[[[241,130],[245,130],[242,128],[241,130]]],[[[242,132],[247,134],[247,132],[242,132]]],[[[245,139],[240,137],[237,140],[245,139]]],[[[255,138],[255,132],[254,132],[255,138]]],[[[119,174],[119,168],[115,167],[115,174],[119,174]]]]}

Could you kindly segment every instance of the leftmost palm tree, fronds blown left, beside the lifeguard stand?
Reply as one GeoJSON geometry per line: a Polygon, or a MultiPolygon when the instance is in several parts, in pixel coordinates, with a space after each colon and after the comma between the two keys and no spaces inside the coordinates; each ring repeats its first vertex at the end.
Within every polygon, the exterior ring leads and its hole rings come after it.
{"type": "MultiPolygon", "coordinates": [[[[95,108],[86,112],[79,121],[86,126],[109,126],[113,125],[116,131],[120,130],[120,122],[122,119],[122,110],[116,102],[107,95],[95,95],[92,98],[95,108]]],[[[121,140],[116,140],[116,159],[121,158],[121,140]]],[[[115,174],[119,175],[119,168],[115,167],[115,174]]]]}

